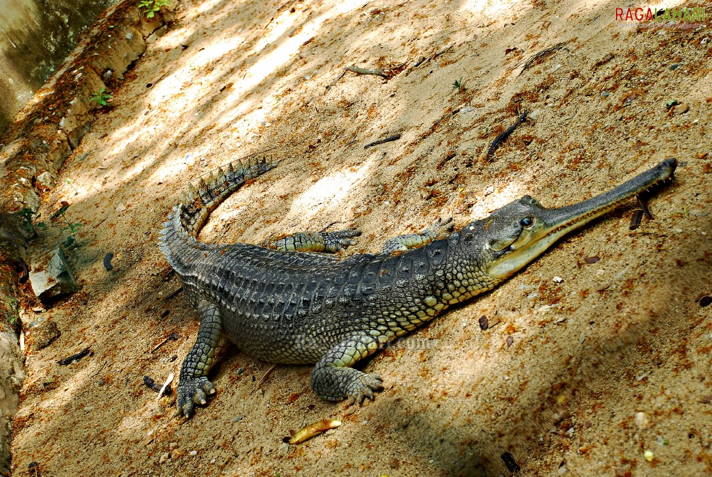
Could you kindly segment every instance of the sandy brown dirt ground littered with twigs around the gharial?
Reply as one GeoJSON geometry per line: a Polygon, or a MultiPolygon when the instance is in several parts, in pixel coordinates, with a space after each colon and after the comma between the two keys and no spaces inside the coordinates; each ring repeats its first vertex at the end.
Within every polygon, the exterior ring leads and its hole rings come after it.
{"type": "Polygon", "coordinates": [[[712,475],[712,306],[698,303],[712,292],[712,38],[709,23],[614,21],[620,6],[182,1],[43,196],[44,217],[67,201],[82,224],[81,290],[27,312],[62,335],[26,348],[15,475],[508,476],[505,452],[523,476],[712,475]],[[347,65],[389,78],[333,84],[347,65]],[[571,204],[667,157],[680,166],[654,220],[630,231],[636,204],[617,209],[367,363],[386,384],[374,402],[319,399],[306,366],[258,386],[270,365],[224,342],[218,394],[177,418],[143,382],[177,375],[198,329],[172,296],[159,224],[187,182],[256,153],[281,163],[203,240],[343,221],[365,231],[348,253],[377,251],[439,216],[462,226],[523,194],[571,204]],[[482,316],[497,324],[481,330],[482,316]],[[320,419],[343,424],[283,444],[320,419]]]}

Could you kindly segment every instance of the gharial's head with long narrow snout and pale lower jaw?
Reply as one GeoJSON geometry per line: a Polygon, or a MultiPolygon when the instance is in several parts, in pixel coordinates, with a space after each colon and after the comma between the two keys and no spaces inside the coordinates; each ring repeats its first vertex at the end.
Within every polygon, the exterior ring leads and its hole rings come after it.
{"type": "Polygon", "coordinates": [[[615,189],[579,204],[546,209],[524,196],[503,206],[489,219],[493,227],[486,247],[490,248],[493,258],[486,273],[498,280],[511,276],[565,234],[670,179],[676,166],[675,159],[666,159],[615,189]]]}

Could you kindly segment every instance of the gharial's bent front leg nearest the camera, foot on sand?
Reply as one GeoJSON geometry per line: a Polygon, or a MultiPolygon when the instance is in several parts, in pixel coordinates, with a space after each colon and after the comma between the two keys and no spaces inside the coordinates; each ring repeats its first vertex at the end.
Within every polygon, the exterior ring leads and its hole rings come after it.
{"type": "Polygon", "coordinates": [[[373,392],[383,389],[381,377],[351,366],[375,353],[378,347],[379,341],[365,333],[347,337],[329,350],[314,367],[311,379],[314,392],[330,401],[348,398],[350,402],[360,403],[366,397],[373,399],[373,392]]]}

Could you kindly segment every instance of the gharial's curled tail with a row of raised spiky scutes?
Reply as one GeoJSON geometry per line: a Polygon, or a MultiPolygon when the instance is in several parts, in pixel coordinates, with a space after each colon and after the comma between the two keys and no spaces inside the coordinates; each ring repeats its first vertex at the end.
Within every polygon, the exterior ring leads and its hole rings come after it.
{"type": "Polygon", "coordinates": [[[158,241],[168,263],[179,273],[182,272],[191,261],[190,255],[206,247],[196,237],[211,211],[245,182],[275,167],[277,162],[266,157],[248,160],[246,164],[238,160],[226,168],[219,167],[206,180],[199,179],[196,184],[188,184],[181,193],[179,203],[163,223],[158,241]]]}

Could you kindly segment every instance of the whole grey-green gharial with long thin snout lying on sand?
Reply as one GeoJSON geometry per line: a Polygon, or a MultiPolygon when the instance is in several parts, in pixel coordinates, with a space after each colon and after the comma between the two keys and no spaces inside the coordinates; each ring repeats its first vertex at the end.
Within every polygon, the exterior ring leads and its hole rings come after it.
{"type": "Polygon", "coordinates": [[[546,209],[530,196],[453,231],[436,221],[421,234],[389,239],[380,253],[339,260],[323,253],[352,245],[359,231],[299,233],[268,241],[209,245],[196,237],[226,196],[276,167],[234,162],[189,186],[163,224],[159,247],[197,310],[200,327],[184,360],[179,412],[190,416],[216,392],[207,374],[226,332],[266,362],[316,363],[311,384],[325,399],[361,402],[382,379],[352,367],[451,305],[501,283],[561,236],[671,179],[667,159],[622,185],[570,206],[546,209]]]}

